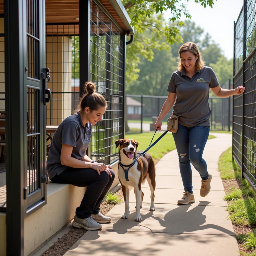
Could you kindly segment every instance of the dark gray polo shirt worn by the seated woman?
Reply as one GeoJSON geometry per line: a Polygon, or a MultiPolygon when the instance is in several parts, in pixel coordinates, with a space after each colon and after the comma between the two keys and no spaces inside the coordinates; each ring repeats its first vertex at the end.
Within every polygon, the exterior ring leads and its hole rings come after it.
{"type": "Polygon", "coordinates": [[[84,126],[79,111],[62,121],[54,133],[47,157],[49,179],[68,168],[68,166],[60,163],[62,144],[73,146],[71,157],[82,160],[89,146],[91,133],[92,124],[88,122],[84,126]]]}

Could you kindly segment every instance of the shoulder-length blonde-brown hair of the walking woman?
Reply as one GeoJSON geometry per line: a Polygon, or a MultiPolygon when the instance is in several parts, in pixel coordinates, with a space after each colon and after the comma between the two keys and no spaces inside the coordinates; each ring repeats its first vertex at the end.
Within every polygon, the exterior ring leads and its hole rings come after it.
{"type": "Polygon", "coordinates": [[[201,52],[199,51],[197,45],[193,42],[186,42],[179,48],[179,57],[178,57],[178,63],[177,63],[177,69],[182,72],[185,70],[185,67],[181,63],[180,59],[180,54],[184,51],[190,51],[192,52],[195,56],[198,54],[198,59],[196,60],[196,70],[201,70],[205,66],[205,61],[201,55],[201,52]]]}

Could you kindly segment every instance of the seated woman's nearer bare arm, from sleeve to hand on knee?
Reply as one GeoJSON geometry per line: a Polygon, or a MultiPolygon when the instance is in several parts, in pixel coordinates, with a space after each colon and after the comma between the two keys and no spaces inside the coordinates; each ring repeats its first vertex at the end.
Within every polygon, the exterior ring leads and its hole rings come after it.
{"type": "Polygon", "coordinates": [[[73,168],[92,168],[99,174],[107,169],[105,164],[92,164],[91,162],[84,162],[74,157],[71,157],[73,146],[62,144],[60,153],[60,163],[73,168]]]}

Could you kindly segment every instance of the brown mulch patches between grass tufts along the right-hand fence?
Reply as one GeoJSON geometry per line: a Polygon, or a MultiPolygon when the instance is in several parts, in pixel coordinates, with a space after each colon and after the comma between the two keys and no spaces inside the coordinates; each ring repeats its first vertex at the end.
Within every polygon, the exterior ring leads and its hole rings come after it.
{"type": "MultiPolygon", "coordinates": [[[[226,194],[231,191],[231,187],[241,188],[243,186],[241,181],[238,179],[222,179],[222,183],[223,183],[224,191],[226,194]]],[[[228,204],[229,204],[229,201],[228,201],[228,204]]],[[[234,233],[236,234],[236,236],[238,236],[239,234],[247,234],[248,232],[256,228],[256,226],[254,225],[249,227],[249,226],[239,226],[234,223],[232,224],[233,224],[234,233]]],[[[237,243],[238,243],[238,248],[240,252],[246,252],[246,253],[253,252],[253,250],[246,250],[246,248],[243,247],[242,242],[237,241],[237,243]]]]}

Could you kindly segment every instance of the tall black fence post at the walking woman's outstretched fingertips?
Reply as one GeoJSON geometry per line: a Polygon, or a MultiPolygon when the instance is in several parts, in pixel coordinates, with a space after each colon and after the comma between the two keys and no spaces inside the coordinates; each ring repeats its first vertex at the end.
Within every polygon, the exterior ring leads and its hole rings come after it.
{"type": "MultiPolygon", "coordinates": [[[[243,86],[244,86],[244,70],[245,70],[245,62],[246,59],[246,21],[247,21],[247,0],[243,2],[243,86]]],[[[242,105],[243,105],[243,116],[242,116],[242,159],[241,159],[241,167],[242,167],[242,178],[244,178],[244,93],[242,94],[242,105]]]]}

